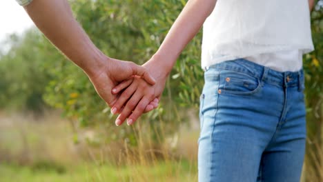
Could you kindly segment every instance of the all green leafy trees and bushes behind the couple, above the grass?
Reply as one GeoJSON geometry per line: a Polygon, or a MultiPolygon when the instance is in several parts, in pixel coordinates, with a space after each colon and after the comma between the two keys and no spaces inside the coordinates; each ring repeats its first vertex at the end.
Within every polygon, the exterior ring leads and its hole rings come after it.
{"type": "MultiPolygon", "coordinates": [[[[304,57],[306,101],[310,130],[322,124],[323,34],[322,0],[312,12],[315,52],[304,57]],[[317,117],[319,116],[319,117],[317,117]],[[318,123],[316,123],[318,121],[318,123]]],[[[110,57],[142,64],[154,54],[168,29],[184,7],[184,0],[75,0],[75,17],[90,39],[110,57]]],[[[201,32],[179,57],[171,73],[161,108],[146,114],[143,121],[158,125],[178,125],[183,108],[197,108],[203,85],[199,66],[201,32]],[[155,122],[155,121],[160,122],[155,122]]],[[[104,101],[79,68],[61,55],[39,32],[30,30],[23,37],[12,36],[10,50],[1,53],[0,107],[40,110],[48,104],[63,110],[64,115],[81,125],[103,125],[114,122],[104,101]]],[[[184,114],[182,114],[184,115],[184,114]]],[[[171,131],[175,131],[176,127],[171,131]]],[[[119,130],[126,136],[131,128],[119,130]]]]}

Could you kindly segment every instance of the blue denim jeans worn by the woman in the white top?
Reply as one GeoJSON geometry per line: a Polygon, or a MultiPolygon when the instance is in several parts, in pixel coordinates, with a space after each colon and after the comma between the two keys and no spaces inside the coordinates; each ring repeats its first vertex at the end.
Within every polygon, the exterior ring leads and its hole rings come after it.
{"type": "Polygon", "coordinates": [[[296,182],[304,161],[304,74],[245,59],[206,70],[199,182],[296,182]]]}

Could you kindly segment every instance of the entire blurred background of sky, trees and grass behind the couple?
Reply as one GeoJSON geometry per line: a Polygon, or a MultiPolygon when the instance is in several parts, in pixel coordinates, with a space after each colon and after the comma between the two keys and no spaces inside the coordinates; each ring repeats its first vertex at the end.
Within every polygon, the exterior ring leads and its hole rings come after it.
{"type": "MultiPolygon", "coordinates": [[[[182,0],[73,0],[75,17],[109,57],[142,64],[182,0]]],[[[308,139],[302,181],[323,181],[323,1],[304,56],[308,139]]],[[[201,32],[177,61],[160,107],[132,127],[115,117],[79,68],[1,1],[0,181],[197,181],[201,32]]]]}

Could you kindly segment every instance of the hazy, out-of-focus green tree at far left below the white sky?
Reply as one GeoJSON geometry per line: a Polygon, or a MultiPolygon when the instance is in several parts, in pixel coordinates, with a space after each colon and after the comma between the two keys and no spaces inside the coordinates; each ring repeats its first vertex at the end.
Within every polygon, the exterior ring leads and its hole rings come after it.
{"type": "Polygon", "coordinates": [[[0,107],[40,112],[46,105],[42,99],[50,79],[43,62],[42,35],[28,30],[23,37],[12,34],[10,50],[0,57],[0,107]]]}

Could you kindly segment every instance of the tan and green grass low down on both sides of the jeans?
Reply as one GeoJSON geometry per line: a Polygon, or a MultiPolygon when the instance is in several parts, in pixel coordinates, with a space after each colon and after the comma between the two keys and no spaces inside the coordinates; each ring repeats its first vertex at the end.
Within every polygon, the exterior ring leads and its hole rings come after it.
{"type": "MultiPolygon", "coordinates": [[[[126,139],[93,146],[88,141],[95,141],[100,131],[75,131],[59,112],[41,118],[0,113],[0,172],[15,175],[21,170],[26,181],[197,181],[198,127],[182,125],[175,134],[166,135],[164,126],[156,141],[151,137],[155,128],[147,123],[133,126],[137,145],[126,139]],[[8,170],[11,167],[3,167],[3,161],[18,169],[8,170]],[[55,173],[32,172],[43,168],[55,173]]],[[[322,161],[322,146],[311,143],[302,182],[323,181],[322,161]]]]}

